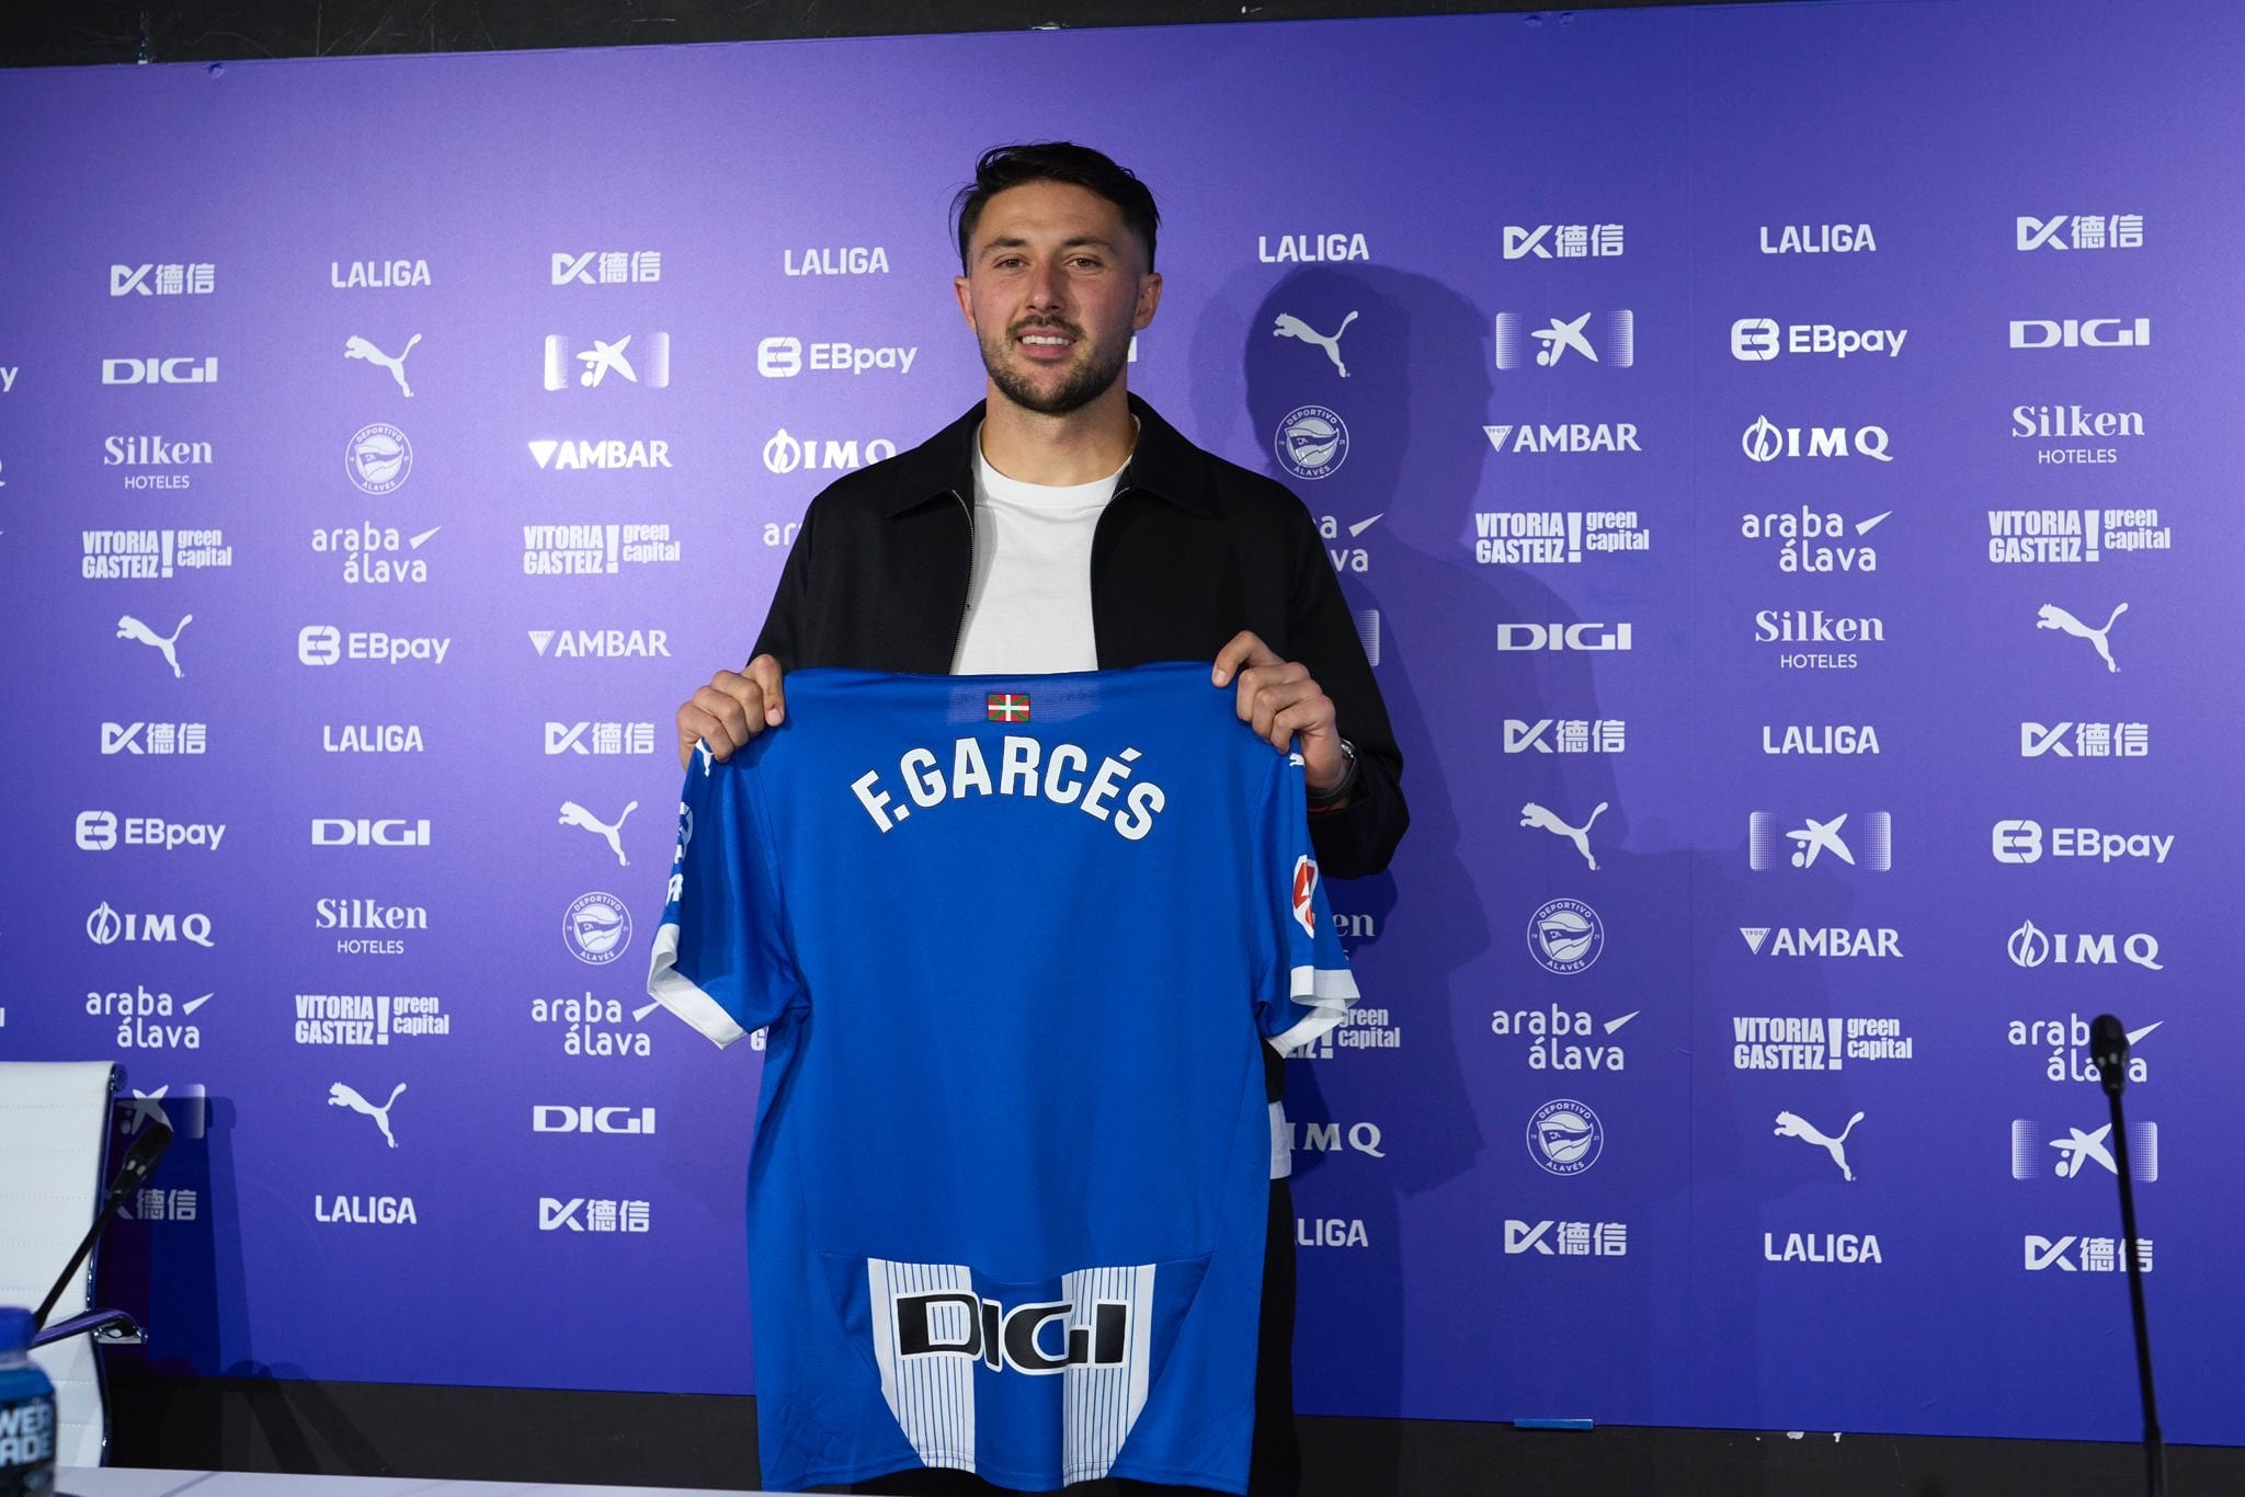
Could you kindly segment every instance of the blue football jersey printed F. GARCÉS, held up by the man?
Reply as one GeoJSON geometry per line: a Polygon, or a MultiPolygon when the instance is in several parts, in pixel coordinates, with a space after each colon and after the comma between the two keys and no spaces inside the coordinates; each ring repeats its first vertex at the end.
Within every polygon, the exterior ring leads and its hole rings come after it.
{"type": "Polygon", "coordinates": [[[797,671],[678,821],[649,994],[768,1028],[766,1486],[1244,1490],[1259,1041],[1356,1001],[1300,759],[1206,664],[797,671]]]}

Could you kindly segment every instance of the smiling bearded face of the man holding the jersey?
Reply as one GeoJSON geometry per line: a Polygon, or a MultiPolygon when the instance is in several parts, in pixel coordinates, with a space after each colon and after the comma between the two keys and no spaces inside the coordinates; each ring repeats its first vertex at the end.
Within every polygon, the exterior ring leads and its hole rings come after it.
{"type": "Polygon", "coordinates": [[[1026,411],[1066,415],[1114,386],[1131,332],[1154,321],[1161,276],[1116,204],[1028,182],[983,204],[956,292],[990,384],[1026,411]]]}

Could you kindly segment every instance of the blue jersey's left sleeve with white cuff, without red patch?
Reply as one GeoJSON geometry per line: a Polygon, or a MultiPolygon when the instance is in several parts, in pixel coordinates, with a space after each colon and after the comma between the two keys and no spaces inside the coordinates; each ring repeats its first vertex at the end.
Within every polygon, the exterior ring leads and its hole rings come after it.
{"type": "Polygon", "coordinates": [[[678,797],[669,902],[647,997],[721,1046],[808,1003],[754,770],[696,754],[678,797]]]}

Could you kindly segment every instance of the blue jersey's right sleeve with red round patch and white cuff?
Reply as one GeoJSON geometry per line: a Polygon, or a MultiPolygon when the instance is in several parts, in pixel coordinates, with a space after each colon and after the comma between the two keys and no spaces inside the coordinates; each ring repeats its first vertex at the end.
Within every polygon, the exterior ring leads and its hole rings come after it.
{"type": "Polygon", "coordinates": [[[1289,754],[1264,810],[1262,857],[1268,871],[1262,902],[1277,922],[1275,981],[1257,999],[1257,1028],[1280,1055],[1291,1055],[1340,1023],[1356,1003],[1356,976],[1340,949],[1325,878],[1309,846],[1302,756],[1289,754]]]}

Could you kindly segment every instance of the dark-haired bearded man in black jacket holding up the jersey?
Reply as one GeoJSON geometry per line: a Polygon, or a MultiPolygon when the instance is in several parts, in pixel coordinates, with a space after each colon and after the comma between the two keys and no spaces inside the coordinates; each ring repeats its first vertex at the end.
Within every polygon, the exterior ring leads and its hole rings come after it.
{"type": "MultiPolygon", "coordinates": [[[[1387,866],[1396,750],[1316,523],[1277,483],[1181,438],[1125,388],[1154,321],[1161,213],[1073,144],[1001,146],[954,202],[959,312],[988,395],[925,444],[819,494],[757,655],[678,707],[678,759],[730,759],[786,718],[786,671],[1042,673],[1210,660],[1239,718],[1298,741],[1322,871],[1387,866]],[[1089,584],[1089,586],[1087,586],[1089,584]]],[[[1293,1205],[1273,1100],[1250,1493],[1293,1493],[1293,1205]]],[[[988,1490],[911,1472],[860,1490],[988,1490]]],[[[1145,1488],[1140,1488],[1145,1490],[1145,1488]]]]}

